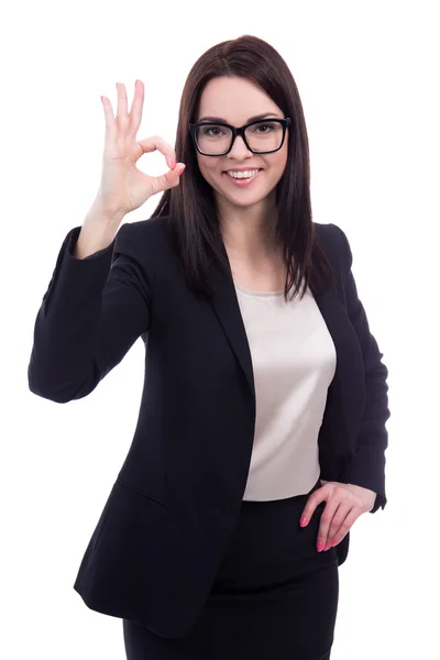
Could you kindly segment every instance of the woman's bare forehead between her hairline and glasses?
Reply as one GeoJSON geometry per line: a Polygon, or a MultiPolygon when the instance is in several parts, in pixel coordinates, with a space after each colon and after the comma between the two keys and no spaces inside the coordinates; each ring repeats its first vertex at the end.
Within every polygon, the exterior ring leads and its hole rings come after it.
{"type": "Polygon", "coordinates": [[[261,87],[245,78],[212,78],[205,87],[199,102],[197,121],[204,117],[222,118],[227,123],[244,124],[250,117],[275,112],[278,106],[261,87]]]}

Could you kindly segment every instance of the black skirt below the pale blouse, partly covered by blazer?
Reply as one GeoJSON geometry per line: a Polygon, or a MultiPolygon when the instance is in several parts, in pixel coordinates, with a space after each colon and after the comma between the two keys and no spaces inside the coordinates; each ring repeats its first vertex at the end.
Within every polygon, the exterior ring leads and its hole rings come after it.
{"type": "MultiPolygon", "coordinates": [[[[320,487],[320,482],[310,493],[320,487]]],[[[336,548],[316,548],[321,503],[243,502],[209,598],[189,635],[165,639],[123,619],[128,660],[329,660],[339,597],[336,548]]]]}

